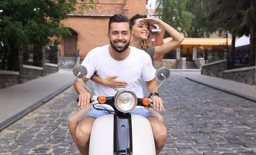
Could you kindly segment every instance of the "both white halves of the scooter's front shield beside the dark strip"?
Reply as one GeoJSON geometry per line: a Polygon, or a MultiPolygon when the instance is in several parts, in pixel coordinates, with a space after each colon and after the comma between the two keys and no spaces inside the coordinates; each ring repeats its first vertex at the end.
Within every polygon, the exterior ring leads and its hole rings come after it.
{"type": "MultiPolygon", "coordinates": [[[[132,155],[156,155],[154,137],[148,119],[131,115],[132,155]]],[[[113,155],[114,115],[97,118],[90,135],[89,155],[113,155]]]]}

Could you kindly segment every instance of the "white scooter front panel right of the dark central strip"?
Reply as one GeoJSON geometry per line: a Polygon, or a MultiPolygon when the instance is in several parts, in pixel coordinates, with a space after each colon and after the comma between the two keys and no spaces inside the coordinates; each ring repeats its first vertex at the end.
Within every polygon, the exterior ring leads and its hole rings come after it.
{"type": "Polygon", "coordinates": [[[148,119],[131,115],[133,155],[155,155],[154,137],[148,119]]]}

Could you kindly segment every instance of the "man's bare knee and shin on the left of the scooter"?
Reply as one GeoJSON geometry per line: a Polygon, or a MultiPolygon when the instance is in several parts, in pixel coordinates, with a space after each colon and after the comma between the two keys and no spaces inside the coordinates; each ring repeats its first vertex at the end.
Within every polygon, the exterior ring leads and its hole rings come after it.
{"type": "Polygon", "coordinates": [[[95,118],[83,118],[76,128],[76,142],[82,155],[89,154],[90,133],[95,118]]]}

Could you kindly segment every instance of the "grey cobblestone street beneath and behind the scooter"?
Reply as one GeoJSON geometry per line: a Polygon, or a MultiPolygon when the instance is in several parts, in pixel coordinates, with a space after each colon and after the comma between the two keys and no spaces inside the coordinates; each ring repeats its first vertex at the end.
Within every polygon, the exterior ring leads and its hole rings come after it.
{"type": "MultiPolygon", "coordinates": [[[[145,82],[143,89],[147,96],[145,82]]],[[[67,125],[78,109],[76,97],[71,86],[0,132],[0,155],[80,155],[67,125]]],[[[256,155],[256,103],[177,72],[160,87],[160,97],[168,131],[160,155],[256,155]]]]}

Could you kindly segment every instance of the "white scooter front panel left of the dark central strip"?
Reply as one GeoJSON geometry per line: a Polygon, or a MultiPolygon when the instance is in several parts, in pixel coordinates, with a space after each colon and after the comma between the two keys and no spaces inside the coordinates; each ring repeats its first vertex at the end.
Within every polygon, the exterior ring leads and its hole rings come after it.
{"type": "Polygon", "coordinates": [[[90,135],[89,155],[113,155],[114,115],[97,118],[90,135]]]}

